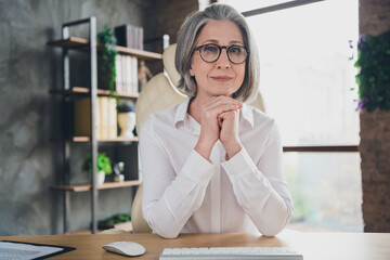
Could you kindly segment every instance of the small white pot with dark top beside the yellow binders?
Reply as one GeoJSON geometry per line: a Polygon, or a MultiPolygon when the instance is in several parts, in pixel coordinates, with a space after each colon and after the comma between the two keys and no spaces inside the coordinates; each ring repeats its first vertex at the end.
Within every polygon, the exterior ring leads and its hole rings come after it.
{"type": "Polygon", "coordinates": [[[134,138],[133,130],[135,127],[135,106],[131,101],[120,100],[117,105],[118,125],[121,138],[134,138]]]}

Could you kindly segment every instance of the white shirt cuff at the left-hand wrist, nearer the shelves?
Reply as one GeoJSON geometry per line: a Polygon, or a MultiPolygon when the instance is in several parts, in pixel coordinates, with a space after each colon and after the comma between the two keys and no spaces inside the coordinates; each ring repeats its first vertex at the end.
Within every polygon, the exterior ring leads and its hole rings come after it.
{"type": "Polygon", "coordinates": [[[209,183],[216,170],[217,166],[210,164],[210,161],[205,159],[194,150],[191,152],[190,157],[184,164],[181,172],[184,177],[203,185],[209,183]]]}

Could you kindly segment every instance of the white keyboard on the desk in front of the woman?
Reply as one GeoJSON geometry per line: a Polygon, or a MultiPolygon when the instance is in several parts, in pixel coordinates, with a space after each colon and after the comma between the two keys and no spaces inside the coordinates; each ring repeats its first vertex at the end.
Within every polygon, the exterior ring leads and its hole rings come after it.
{"type": "Polygon", "coordinates": [[[159,260],[302,260],[303,256],[287,247],[193,247],[165,248],[159,260]]]}

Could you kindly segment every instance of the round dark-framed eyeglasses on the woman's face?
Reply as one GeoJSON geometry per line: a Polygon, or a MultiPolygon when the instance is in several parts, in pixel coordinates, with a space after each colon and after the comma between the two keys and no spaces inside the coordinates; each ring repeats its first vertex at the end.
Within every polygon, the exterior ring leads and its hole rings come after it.
{"type": "Polygon", "coordinates": [[[226,49],[227,58],[233,64],[244,63],[249,55],[249,51],[240,46],[220,47],[213,43],[208,43],[195,48],[195,51],[199,51],[200,57],[205,62],[213,63],[220,57],[222,49],[226,49]]]}

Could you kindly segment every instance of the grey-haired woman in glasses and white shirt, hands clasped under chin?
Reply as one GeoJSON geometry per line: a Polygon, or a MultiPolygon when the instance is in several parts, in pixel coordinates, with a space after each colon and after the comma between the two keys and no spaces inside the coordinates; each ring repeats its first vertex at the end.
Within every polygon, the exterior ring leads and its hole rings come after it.
{"type": "Polygon", "coordinates": [[[140,133],[143,217],[154,233],[273,236],[290,220],[278,129],[243,104],[258,91],[258,61],[233,8],[212,4],[184,21],[176,67],[190,99],[152,114],[140,133]]]}

